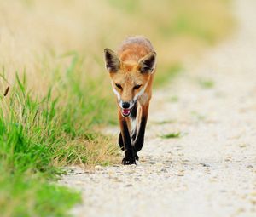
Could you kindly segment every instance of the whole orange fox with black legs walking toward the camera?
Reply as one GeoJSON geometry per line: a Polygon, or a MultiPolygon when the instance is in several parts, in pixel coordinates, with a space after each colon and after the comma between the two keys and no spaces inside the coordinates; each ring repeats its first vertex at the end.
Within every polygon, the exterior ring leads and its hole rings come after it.
{"type": "Polygon", "coordinates": [[[116,95],[122,164],[137,164],[144,144],[148,108],[156,71],[156,52],[143,36],[127,37],[116,52],[104,49],[105,66],[116,95]]]}

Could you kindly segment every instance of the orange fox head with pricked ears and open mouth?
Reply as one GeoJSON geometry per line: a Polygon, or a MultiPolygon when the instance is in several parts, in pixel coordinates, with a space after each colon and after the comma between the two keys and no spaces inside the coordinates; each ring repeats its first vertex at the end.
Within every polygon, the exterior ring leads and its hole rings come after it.
{"type": "Polygon", "coordinates": [[[129,117],[131,109],[143,95],[148,80],[154,72],[156,53],[151,52],[137,61],[122,61],[111,49],[105,49],[105,63],[112,80],[122,115],[129,117]]]}

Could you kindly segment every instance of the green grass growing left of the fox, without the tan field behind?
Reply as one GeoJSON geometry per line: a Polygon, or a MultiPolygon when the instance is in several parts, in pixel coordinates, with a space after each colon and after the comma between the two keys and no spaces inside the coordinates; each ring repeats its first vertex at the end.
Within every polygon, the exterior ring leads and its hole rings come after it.
{"type": "MultiPolygon", "coordinates": [[[[22,79],[17,75],[9,93],[0,96],[1,216],[65,216],[81,197],[49,183],[63,174],[59,166],[109,165],[118,155],[112,140],[92,129],[105,120],[102,115],[108,110],[100,96],[86,94],[74,75],[68,77],[74,65],[73,61],[66,74],[68,83],[61,81],[55,97],[49,88],[38,100],[27,89],[25,75],[22,79]],[[61,93],[65,103],[60,102],[61,93]]],[[[1,86],[8,84],[4,73],[2,81],[1,86]]]]}

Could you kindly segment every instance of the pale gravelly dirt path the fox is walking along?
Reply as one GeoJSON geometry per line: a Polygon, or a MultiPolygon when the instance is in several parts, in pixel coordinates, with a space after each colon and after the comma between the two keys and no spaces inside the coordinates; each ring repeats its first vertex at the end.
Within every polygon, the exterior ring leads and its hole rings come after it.
{"type": "Polygon", "coordinates": [[[154,94],[139,165],[61,180],[83,191],[75,216],[256,216],[255,9],[236,1],[236,36],[154,94]]]}

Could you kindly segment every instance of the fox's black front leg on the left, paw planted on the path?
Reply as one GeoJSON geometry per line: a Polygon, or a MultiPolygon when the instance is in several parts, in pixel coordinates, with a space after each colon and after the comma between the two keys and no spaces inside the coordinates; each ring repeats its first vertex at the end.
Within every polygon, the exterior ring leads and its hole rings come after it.
{"type": "Polygon", "coordinates": [[[125,157],[123,158],[122,163],[124,165],[136,164],[134,150],[133,150],[133,147],[131,146],[131,137],[129,133],[129,128],[127,127],[127,123],[125,121],[122,121],[122,126],[123,126],[122,137],[125,143],[125,157]]]}

